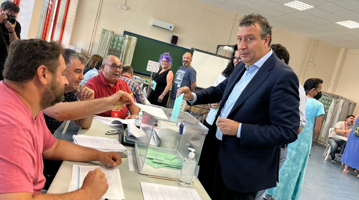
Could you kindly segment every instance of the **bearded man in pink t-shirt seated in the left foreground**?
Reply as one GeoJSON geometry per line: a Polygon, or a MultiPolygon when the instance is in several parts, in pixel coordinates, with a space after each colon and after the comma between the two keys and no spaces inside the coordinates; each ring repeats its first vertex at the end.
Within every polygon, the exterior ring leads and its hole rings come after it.
{"type": "MultiPolygon", "coordinates": [[[[60,44],[39,39],[17,40],[10,45],[4,81],[0,82],[1,200],[99,199],[108,189],[107,179],[99,169],[88,173],[79,190],[40,194],[45,184],[42,158],[100,161],[112,167],[122,162],[117,152],[101,152],[58,140],[47,129],[41,111],[61,102],[64,87],[69,84],[64,76],[62,51],[60,44]]],[[[122,97],[134,101],[126,92],[122,97]]]]}

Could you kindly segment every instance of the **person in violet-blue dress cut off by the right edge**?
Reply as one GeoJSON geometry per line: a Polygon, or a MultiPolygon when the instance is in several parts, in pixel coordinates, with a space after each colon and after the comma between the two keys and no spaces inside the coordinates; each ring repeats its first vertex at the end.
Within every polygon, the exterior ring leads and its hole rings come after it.
{"type": "MultiPolygon", "coordinates": [[[[348,142],[346,143],[343,156],[341,161],[344,162],[345,167],[343,170],[344,174],[351,174],[349,167],[356,169],[354,172],[358,173],[359,169],[359,114],[355,117],[354,127],[351,130],[348,142]]],[[[359,179],[359,175],[356,176],[359,179]]]]}

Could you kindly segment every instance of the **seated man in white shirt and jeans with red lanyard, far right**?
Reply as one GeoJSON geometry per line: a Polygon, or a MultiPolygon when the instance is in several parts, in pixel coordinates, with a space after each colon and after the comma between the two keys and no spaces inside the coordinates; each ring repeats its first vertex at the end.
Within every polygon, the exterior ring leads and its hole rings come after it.
{"type": "Polygon", "coordinates": [[[351,129],[353,128],[354,115],[348,115],[345,118],[344,122],[337,122],[335,125],[335,130],[332,131],[328,138],[328,144],[330,145],[330,155],[332,161],[335,159],[335,153],[340,153],[338,147],[341,149],[344,148],[344,142],[339,138],[336,138],[335,135],[348,137],[351,129]]]}

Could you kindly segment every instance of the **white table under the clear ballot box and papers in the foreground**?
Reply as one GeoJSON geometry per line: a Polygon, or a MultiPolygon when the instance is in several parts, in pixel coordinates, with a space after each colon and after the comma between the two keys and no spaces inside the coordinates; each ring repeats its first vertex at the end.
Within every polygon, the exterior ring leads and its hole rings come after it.
{"type": "MultiPolygon", "coordinates": [[[[90,129],[80,129],[78,135],[89,135],[89,136],[101,136],[101,137],[109,137],[119,139],[119,135],[105,135],[104,133],[109,130],[118,129],[116,126],[107,126],[103,123],[93,120],[92,126],[90,129]]],[[[123,192],[125,193],[126,200],[138,200],[143,199],[142,190],[140,181],[150,182],[155,184],[163,184],[163,185],[171,185],[171,186],[179,186],[177,181],[163,180],[150,178],[147,175],[139,174],[137,169],[137,161],[136,155],[133,147],[127,147],[127,151],[132,151],[133,163],[135,171],[129,171],[129,161],[128,158],[122,158],[122,164],[117,166],[120,169],[121,180],[123,192]]],[[[65,193],[69,189],[70,180],[71,180],[71,171],[72,165],[101,165],[100,162],[72,162],[72,161],[64,161],[57,172],[55,178],[52,181],[50,188],[48,189],[48,193],[65,193]]],[[[189,188],[196,189],[201,199],[206,200],[210,199],[207,192],[204,190],[198,179],[195,182],[192,182],[189,188]]]]}

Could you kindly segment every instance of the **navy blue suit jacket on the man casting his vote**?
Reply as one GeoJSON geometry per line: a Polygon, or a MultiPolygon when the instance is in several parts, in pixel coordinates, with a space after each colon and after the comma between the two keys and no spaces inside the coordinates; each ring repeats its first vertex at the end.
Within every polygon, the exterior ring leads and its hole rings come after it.
{"type": "MultiPolygon", "coordinates": [[[[241,62],[218,86],[195,92],[194,104],[222,100],[216,121],[245,70],[241,62]]],[[[242,123],[241,138],[223,135],[219,158],[228,188],[255,192],[276,186],[280,145],[298,138],[298,86],[292,68],[272,53],[237,98],[227,118],[242,123]]],[[[214,123],[209,134],[216,128],[214,123]]]]}

